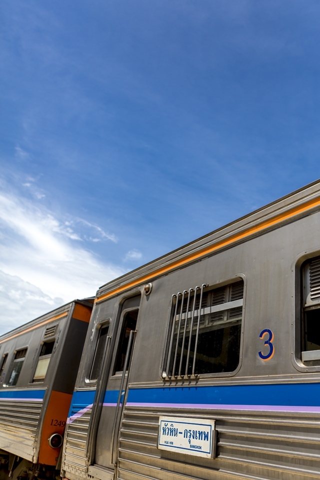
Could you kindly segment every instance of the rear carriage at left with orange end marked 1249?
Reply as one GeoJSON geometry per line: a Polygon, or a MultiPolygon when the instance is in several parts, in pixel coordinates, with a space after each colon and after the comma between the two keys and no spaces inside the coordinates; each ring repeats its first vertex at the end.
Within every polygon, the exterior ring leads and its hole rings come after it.
{"type": "Polygon", "coordinates": [[[1,478],[59,475],[92,303],[74,300],[0,336],[1,478]]]}

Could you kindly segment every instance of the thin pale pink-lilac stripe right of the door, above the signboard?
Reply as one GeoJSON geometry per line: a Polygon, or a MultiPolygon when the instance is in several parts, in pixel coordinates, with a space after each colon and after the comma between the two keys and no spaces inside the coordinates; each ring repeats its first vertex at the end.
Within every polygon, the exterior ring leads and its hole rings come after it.
{"type": "Polygon", "coordinates": [[[266,410],[266,411],[300,411],[320,412],[320,406],[299,405],[234,405],[220,403],[142,403],[128,401],[127,406],[151,406],[163,408],[204,408],[210,410],[266,410]]]}

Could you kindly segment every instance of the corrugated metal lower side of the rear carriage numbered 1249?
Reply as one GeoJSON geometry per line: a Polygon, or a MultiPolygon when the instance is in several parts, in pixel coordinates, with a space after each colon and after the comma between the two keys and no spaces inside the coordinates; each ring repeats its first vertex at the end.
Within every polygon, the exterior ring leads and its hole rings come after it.
{"type": "Polygon", "coordinates": [[[32,461],[42,401],[0,400],[0,448],[32,461]]]}

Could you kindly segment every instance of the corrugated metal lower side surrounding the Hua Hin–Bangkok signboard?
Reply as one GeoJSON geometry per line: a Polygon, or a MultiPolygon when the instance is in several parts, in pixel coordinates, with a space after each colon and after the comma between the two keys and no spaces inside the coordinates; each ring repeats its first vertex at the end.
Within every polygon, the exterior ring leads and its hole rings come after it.
{"type": "MultiPolygon", "coordinates": [[[[320,419],[290,414],[202,413],[216,420],[214,460],[158,450],[159,414],[126,407],[120,430],[118,479],[311,480],[320,478],[320,419]]],[[[193,411],[176,416],[201,417],[193,411]]]]}

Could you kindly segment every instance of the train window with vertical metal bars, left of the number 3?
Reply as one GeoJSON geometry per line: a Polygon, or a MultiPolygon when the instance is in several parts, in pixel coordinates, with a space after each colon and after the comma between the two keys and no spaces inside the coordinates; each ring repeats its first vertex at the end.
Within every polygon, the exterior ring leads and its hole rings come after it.
{"type": "Polygon", "coordinates": [[[239,363],[243,280],[172,297],[163,378],[230,372],[239,363]]]}

